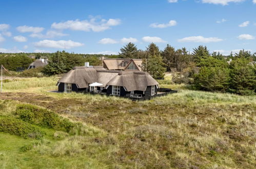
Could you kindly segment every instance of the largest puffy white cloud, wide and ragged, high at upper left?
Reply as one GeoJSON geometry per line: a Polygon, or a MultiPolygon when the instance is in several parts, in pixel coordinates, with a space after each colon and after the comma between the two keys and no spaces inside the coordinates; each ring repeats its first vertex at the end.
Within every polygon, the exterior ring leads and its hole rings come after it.
{"type": "Polygon", "coordinates": [[[110,29],[112,26],[120,25],[120,19],[101,19],[96,22],[96,18],[93,17],[90,20],[68,20],[66,22],[53,23],[51,28],[54,29],[70,29],[75,31],[93,31],[101,32],[110,29]]]}

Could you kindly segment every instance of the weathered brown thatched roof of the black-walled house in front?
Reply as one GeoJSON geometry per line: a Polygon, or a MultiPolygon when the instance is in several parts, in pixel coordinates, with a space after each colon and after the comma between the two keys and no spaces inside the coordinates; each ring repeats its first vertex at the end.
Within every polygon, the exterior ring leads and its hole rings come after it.
{"type": "Polygon", "coordinates": [[[58,82],[75,83],[78,88],[88,88],[89,83],[99,82],[108,85],[123,86],[127,91],[145,91],[147,86],[159,85],[147,72],[115,71],[86,67],[74,67],[58,82]]]}

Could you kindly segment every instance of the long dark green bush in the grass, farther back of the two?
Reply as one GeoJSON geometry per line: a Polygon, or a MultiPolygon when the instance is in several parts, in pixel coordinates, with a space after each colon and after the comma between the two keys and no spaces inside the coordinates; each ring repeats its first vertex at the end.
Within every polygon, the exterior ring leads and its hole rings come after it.
{"type": "Polygon", "coordinates": [[[18,115],[18,118],[23,121],[55,130],[69,132],[74,127],[74,123],[68,119],[64,119],[52,111],[30,104],[17,105],[14,114],[18,115]]]}

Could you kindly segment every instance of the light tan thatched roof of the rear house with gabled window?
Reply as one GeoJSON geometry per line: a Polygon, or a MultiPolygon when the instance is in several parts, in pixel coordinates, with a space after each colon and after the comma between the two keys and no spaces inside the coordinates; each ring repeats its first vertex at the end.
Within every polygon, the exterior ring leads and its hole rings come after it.
{"type": "Polygon", "coordinates": [[[103,63],[108,70],[126,70],[132,61],[137,69],[141,70],[142,59],[106,58],[103,63]]]}

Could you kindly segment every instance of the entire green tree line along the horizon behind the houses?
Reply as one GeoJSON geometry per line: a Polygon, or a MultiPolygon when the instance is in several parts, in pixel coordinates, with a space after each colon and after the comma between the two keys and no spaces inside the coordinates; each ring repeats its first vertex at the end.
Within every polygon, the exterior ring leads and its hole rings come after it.
{"type": "Polygon", "coordinates": [[[220,52],[210,53],[206,46],[194,48],[188,52],[186,48],[175,49],[167,45],[163,51],[154,43],[145,50],[137,49],[135,44],[128,43],[120,49],[118,55],[75,54],[66,51],[55,53],[0,53],[0,64],[11,71],[19,67],[27,68],[35,58],[45,57],[49,64],[40,69],[46,75],[67,73],[74,66],[101,65],[101,57],[106,58],[140,58],[142,70],[149,72],[155,79],[161,79],[165,72],[172,73],[174,83],[192,85],[195,89],[204,91],[231,92],[237,94],[255,94],[256,92],[256,53],[241,50],[228,56],[220,52]],[[232,61],[229,62],[229,59],[232,61]]]}

